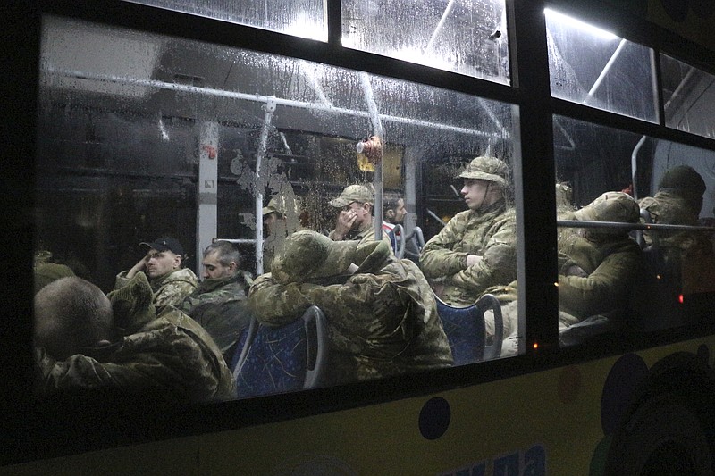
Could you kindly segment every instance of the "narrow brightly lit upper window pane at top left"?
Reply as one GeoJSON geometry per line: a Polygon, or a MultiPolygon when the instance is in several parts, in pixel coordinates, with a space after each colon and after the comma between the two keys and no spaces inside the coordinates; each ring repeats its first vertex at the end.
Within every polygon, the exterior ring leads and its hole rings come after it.
{"type": "Polygon", "coordinates": [[[270,29],[300,38],[327,41],[328,28],[323,0],[280,0],[259,2],[222,2],[214,0],[129,0],[174,10],[176,12],[231,21],[251,27],[270,29]]]}

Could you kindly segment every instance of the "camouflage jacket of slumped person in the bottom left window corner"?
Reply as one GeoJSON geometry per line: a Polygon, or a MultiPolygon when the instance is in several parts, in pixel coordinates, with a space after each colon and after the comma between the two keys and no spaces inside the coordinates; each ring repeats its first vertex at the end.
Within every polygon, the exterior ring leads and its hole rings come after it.
{"type": "Polygon", "coordinates": [[[110,388],[181,405],[236,397],[231,371],[197,322],[172,307],[147,318],[130,322],[130,333],[101,356],[56,362],[38,350],[39,391],[110,388]]]}

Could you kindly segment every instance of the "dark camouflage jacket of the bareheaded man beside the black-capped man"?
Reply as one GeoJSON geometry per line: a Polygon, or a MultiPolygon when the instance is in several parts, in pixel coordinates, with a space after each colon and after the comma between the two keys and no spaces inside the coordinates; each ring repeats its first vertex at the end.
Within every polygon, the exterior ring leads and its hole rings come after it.
{"type": "Polygon", "coordinates": [[[178,306],[214,338],[229,364],[240,332],[250,322],[246,303],[250,282],[242,271],[229,278],[206,279],[178,306]]]}

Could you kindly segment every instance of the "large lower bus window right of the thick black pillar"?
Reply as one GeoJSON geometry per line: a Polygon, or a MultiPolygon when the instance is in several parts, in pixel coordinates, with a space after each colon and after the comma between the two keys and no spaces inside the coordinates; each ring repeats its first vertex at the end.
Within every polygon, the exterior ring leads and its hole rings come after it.
{"type": "Polygon", "coordinates": [[[715,154],[565,117],[554,137],[562,344],[707,319],[715,154]]]}

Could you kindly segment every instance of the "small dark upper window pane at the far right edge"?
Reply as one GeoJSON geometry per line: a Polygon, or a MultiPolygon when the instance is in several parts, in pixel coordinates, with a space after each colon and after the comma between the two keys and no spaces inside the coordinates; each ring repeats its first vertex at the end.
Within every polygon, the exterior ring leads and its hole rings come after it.
{"type": "Polygon", "coordinates": [[[660,54],[665,124],[715,138],[715,76],[660,54]]]}

